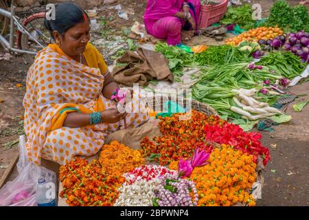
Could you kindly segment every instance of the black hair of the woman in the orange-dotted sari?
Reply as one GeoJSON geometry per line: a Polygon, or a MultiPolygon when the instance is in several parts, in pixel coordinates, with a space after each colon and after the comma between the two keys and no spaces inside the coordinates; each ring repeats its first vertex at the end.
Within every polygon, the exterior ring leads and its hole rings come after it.
{"type": "Polygon", "coordinates": [[[55,19],[48,19],[45,17],[44,25],[50,34],[56,30],[59,34],[65,34],[67,30],[78,23],[88,20],[87,13],[75,3],[58,3],[55,5],[55,19]]]}

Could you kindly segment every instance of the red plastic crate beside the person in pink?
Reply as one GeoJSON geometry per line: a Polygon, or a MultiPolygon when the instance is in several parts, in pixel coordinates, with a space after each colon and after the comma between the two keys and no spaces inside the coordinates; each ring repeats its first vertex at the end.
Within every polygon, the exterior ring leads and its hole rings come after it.
{"type": "Polygon", "coordinates": [[[228,3],[229,0],[221,0],[221,3],[218,5],[201,5],[198,28],[205,29],[213,23],[220,21],[225,16],[225,12],[227,12],[228,3]]]}

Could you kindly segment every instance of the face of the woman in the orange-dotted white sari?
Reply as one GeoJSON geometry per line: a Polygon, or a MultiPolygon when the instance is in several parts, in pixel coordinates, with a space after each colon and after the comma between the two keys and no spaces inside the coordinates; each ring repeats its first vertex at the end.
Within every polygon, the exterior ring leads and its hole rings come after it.
{"type": "Polygon", "coordinates": [[[86,45],[90,40],[89,21],[84,21],[73,26],[65,34],[54,33],[54,37],[59,42],[60,48],[67,56],[79,56],[86,50],[86,45]]]}

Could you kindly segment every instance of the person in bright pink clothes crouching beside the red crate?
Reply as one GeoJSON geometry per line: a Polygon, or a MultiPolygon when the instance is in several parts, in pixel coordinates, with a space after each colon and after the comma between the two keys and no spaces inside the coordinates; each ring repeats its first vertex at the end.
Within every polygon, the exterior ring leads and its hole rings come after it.
{"type": "Polygon", "coordinates": [[[181,43],[181,30],[198,32],[199,0],[148,0],[144,14],[146,30],[168,45],[181,43]]]}

